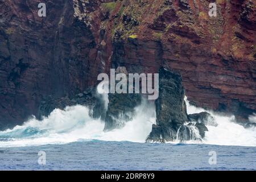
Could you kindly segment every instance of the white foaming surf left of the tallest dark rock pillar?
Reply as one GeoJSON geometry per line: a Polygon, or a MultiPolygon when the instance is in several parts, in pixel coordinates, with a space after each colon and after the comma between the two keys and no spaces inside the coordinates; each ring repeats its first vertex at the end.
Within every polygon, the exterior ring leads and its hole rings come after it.
{"type": "Polygon", "coordinates": [[[104,122],[100,119],[89,117],[89,110],[85,106],[69,106],[64,110],[55,109],[48,116],[38,121],[30,119],[22,126],[16,126],[12,130],[0,132],[0,137],[9,135],[9,140],[0,141],[0,147],[38,146],[42,144],[64,144],[79,140],[112,140],[131,142],[145,142],[150,133],[152,123],[155,123],[155,111],[153,104],[143,101],[141,106],[135,108],[134,119],[127,122],[122,129],[104,132],[104,122]],[[20,133],[28,127],[45,131],[28,137],[12,138],[11,135],[20,133]]]}

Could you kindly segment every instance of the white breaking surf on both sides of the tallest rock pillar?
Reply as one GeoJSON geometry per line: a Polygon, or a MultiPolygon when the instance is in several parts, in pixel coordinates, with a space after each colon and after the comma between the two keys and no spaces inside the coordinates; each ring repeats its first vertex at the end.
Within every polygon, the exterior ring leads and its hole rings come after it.
{"type": "MultiPolygon", "coordinates": [[[[107,99],[105,98],[105,102],[107,99]]],[[[187,103],[188,114],[206,111],[187,103]]],[[[39,121],[35,117],[25,122],[22,126],[0,131],[0,147],[38,146],[43,144],[65,144],[76,141],[92,139],[130,142],[145,142],[147,135],[156,121],[154,103],[142,101],[135,108],[136,114],[132,121],[125,124],[122,129],[104,131],[104,122],[90,117],[89,109],[85,106],[68,106],[64,110],[55,109],[39,121]]],[[[205,143],[232,146],[256,146],[256,129],[234,123],[234,116],[225,116],[208,111],[217,125],[207,125],[205,138],[200,140],[198,131],[193,126],[185,126],[183,132],[187,132],[195,140],[183,141],[177,133],[177,140],[170,143],[205,143]],[[189,131],[189,132],[188,132],[189,131]]],[[[255,115],[250,117],[254,122],[255,115]]],[[[210,121],[213,122],[213,121],[210,121]]]]}

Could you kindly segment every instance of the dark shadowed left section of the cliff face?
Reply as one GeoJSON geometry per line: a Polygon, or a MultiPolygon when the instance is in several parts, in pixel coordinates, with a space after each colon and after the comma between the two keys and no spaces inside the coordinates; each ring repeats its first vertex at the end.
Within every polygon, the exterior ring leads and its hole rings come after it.
{"type": "Polygon", "coordinates": [[[77,10],[76,1],[47,1],[46,17],[38,16],[39,3],[0,1],[0,123],[6,127],[38,115],[49,95],[73,97],[104,71],[100,35],[81,19],[97,3],[77,10]]]}

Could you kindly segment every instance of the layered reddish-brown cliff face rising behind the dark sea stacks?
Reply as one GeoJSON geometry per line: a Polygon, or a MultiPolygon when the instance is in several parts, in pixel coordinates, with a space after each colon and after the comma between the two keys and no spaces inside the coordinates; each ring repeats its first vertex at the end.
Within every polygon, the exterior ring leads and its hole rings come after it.
{"type": "Polygon", "coordinates": [[[246,119],[256,112],[256,2],[218,0],[209,17],[210,2],[56,0],[39,17],[39,0],[0,0],[1,125],[38,115],[50,95],[72,100],[118,66],[168,65],[194,104],[246,119]]]}

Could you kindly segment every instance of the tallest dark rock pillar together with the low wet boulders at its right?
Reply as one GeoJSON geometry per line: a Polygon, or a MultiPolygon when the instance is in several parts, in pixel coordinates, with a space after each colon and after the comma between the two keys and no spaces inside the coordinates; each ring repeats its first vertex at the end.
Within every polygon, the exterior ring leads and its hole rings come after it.
{"type": "MultiPolygon", "coordinates": [[[[187,123],[187,109],[184,101],[184,88],[179,73],[166,68],[159,70],[159,97],[155,101],[156,125],[146,142],[168,142],[172,140],[200,140],[204,138],[209,113],[192,114],[187,123]]],[[[189,115],[188,115],[189,116],[189,115]]]]}

